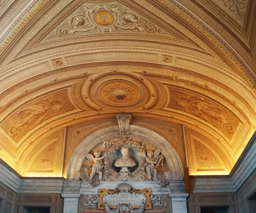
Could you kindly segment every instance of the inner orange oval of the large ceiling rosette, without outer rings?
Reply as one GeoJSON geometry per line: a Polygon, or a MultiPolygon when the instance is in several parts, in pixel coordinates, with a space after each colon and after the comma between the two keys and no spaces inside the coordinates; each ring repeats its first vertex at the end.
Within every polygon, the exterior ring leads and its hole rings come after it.
{"type": "Polygon", "coordinates": [[[101,89],[101,96],[112,104],[129,104],[138,98],[138,92],[129,83],[108,83],[101,89]]]}

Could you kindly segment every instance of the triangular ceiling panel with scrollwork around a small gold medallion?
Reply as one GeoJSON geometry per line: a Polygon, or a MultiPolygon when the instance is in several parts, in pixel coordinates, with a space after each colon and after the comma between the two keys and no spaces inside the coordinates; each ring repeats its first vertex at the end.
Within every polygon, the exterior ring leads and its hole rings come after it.
{"type": "MultiPolygon", "coordinates": [[[[78,3],[79,4],[79,3],[78,3]]],[[[77,6],[77,5],[76,5],[77,6]]],[[[61,23],[50,32],[44,33],[40,43],[51,43],[52,41],[68,40],[72,37],[87,37],[95,35],[119,34],[144,34],[152,37],[166,37],[177,41],[175,32],[168,28],[158,26],[154,21],[138,14],[120,2],[111,3],[83,3],[78,8],[75,6],[69,14],[62,16],[61,23]]],[[[49,31],[49,30],[48,30],[49,31]]]]}

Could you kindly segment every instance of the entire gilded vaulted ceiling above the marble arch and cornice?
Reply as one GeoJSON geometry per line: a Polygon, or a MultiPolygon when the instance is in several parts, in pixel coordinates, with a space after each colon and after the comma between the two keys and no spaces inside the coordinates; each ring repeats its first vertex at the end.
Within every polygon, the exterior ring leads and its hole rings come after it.
{"type": "Polygon", "coordinates": [[[0,158],[66,176],[116,113],[190,175],[228,174],[256,130],[255,0],[1,0],[0,158]]]}

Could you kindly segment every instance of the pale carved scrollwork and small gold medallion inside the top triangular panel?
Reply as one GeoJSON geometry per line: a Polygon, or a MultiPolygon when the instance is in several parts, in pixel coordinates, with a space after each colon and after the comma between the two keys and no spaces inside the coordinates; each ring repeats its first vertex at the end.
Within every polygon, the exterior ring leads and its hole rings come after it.
{"type": "Polygon", "coordinates": [[[121,4],[84,5],[61,23],[46,40],[99,32],[147,32],[168,34],[121,4]]]}

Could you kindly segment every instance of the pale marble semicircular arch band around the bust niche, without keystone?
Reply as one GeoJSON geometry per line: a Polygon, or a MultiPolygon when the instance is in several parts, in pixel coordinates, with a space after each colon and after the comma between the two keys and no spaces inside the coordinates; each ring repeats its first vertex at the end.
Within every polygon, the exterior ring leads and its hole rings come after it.
{"type": "MultiPolygon", "coordinates": [[[[172,147],[172,145],[161,135],[148,130],[145,127],[138,127],[135,125],[130,126],[131,134],[127,137],[138,138],[145,141],[148,144],[153,145],[157,149],[161,149],[161,152],[166,158],[166,162],[169,164],[170,177],[172,180],[183,180],[183,165],[180,161],[179,155],[172,147]]],[[[72,154],[68,167],[67,167],[67,179],[68,180],[78,180],[79,173],[78,170],[81,169],[84,163],[84,153],[90,152],[93,147],[101,144],[103,141],[107,141],[113,138],[120,138],[119,127],[107,127],[102,130],[98,130],[93,134],[84,138],[84,140],[76,147],[76,150],[72,154]]]]}

